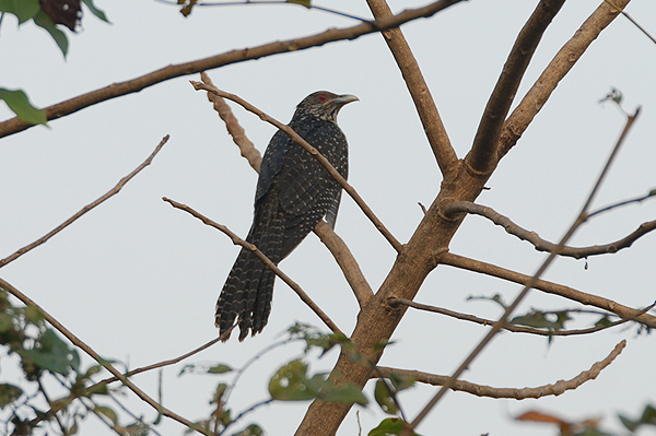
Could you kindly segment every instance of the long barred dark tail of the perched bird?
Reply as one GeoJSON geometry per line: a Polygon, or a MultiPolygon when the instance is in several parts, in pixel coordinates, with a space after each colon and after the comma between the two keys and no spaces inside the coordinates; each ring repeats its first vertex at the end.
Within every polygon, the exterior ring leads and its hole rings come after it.
{"type": "MultiPolygon", "coordinates": [[[[277,210],[261,212],[262,216],[270,219],[259,221],[259,225],[250,229],[246,240],[278,264],[283,236],[282,216],[277,210]]],[[[262,331],[271,311],[274,281],[276,273],[255,252],[243,248],[216,302],[214,323],[219,327],[220,334],[227,331],[235,319],[238,320],[239,341],[248,335],[248,331],[253,334],[262,331]]]]}

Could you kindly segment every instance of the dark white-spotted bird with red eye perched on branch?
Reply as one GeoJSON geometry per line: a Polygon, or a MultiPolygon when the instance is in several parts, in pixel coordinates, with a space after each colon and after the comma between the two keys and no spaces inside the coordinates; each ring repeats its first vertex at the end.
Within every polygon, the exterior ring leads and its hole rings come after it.
{"type": "MultiPolygon", "coordinates": [[[[353,95],[327,91],[309,94],[296,106],[289,126],[315,146],[347,178],[347,139],[337,114],[353,95]]],[[[284,259],[325,216],[335,227],[341,186],[316,157],[279,130],[267,146],[255,193],[253,225],[246,240],[276,264],[284,259]]],[[[242,248],[216,303],[220,334],[238,319],[239,341],[262,331],[271,311],[276,273],[242,248]]],[[[226,338],[227,340],[227,338],[226,338]]]]}

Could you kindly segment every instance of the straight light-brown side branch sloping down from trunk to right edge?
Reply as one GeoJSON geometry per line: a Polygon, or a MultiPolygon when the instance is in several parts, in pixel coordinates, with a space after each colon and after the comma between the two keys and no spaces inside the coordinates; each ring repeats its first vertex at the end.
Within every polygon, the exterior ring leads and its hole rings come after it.
{"type": "MultiPolygon", "coordinates": [[[[526,285],[530,280],[530,275],[522,274],[516,271],[511,271],[505,268],[482,262],[480,260],[454,255],[453,252],[446,252],[442,255],[440,258],[440,263],[461,268],[464,270],[472,272],[479,272],[481,274],[507,280],[509,282],[518,283],[522,285],[526,285]]],[[[649,328],[656,328],[656,317],[649,314],[645,314],[642,310],[623,306],[619,303],[613,302],[612,299],[604,298],[594,294],[587,294],[585,292],[574,290],[570,286],[548,282],[546,280],[538,280],[532,287],[546,292],[548,294],[560,295],[561,297],[578,302],[586,306],[594,306],[604,310],[608,310],[612,314],[616,314],[620,318],[636,321],[649,328]]]]}

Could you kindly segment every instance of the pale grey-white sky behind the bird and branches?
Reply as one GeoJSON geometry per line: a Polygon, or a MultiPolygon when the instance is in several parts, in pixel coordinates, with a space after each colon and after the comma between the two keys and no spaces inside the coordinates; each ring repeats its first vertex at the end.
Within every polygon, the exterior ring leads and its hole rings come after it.
{"type": "MultiPolygon", "coordinates": [[[[390,1],[393,10],[423,2],[390,1]]],[[[469,150],[490,92],[512,44],[536,1],[470,1],[430,20],[402,27],[422,67],[458,156],[469,150]]],[[[560,47],[599,4],[572,0],[547,31],[520,86],[522,97],[560,47]]],[[[97,1],[113,22],[85,11],[84,31],[70,35],[65,61],[50,37],[32,24],[16,31],[5,16],[0,38],[0,85],[21,87],[37,106],[160,69],[277,39],[306,36],[352,20],[294,5],[198,8],[184,19],[175,8],[153,1],[97,1]]],[[[323,2],[370,16],[364,2],[323,2]]],[[[634,0],[628,8],[656,33],[656,2],[634,0]]],[[[599,98],[611,86],[625,95],[624,107],[643,113],[608,177],[596,204],[656,188],[656,45],[624,17],[618,17],[559,85],[517,146],[502,161],[479,202],[525,228],[557,240],[570,225],[624,125],[624,117],[599,98]]],[[[380,35],[329,44],[232,64],[209,72],[214,83],[288,122],[295,105],[316,90],[350,93],[361,102],[347,106],[339,122],[350,143],[350,181],[391,233],[407,241],[429,205],[441,176],[405,83],[380,35]]],[[[211,340],[214,305],[237,255],[229,238],[161,198],[189,204],[245,236],[251,222],[257,175],[226,134],[204,93],[188,80],[172,80],[141,93],[101,103],[80,113],[4,138],[0,145],[0,257],[39,238],[83,205],[105,193],[152,152],[162,137],[169,142],[124,190],[46,245],[7,266],[1,276],[27,294],[101,355],[129,362],[131,368],[172,358],[211,340]]],[[[1,106],[1,105],[0,105],[1,106]]],[[[233,105],[247,134],[263,151],[274,129],[233,105]]],[[[0,107],[0,119],[11,114],[0,107]]],[[[642,222],[654,220],[656,201],[605,214],[574,237],[572,245],[617,240],[642,222]]],[[[344,196],[337,233],[345,240],[372,287],[377,290],[395,260],[394,249],[354,202],[344,196]]],[[[655,235],[614,256],[585,261],[558,260],[546,279],[642,307],[656,295],[655,235]]],[[[527,243],[477,216],[466,219],[452,252],[532,273],[544,258],[527,243]]],[[[344,331],[355,325],[358,305],[340,270],[315,235],[281,268],[344,331]]],[[[502,293],[511,301],[519,286],[437,268],[417,301],[482,317],[497,317],[493,304],[466,302],[469,295],[502,293]]],[[[534,291],[530,307],[575,307],[534,291]]],[[[594,322],[587,318],[585,322],[594,322]]],[[[274,341],[294,321],[323,327],[281,281],[276,285],[269,325],[243,343],[233,338],[187,363],[224,362],[241,366],[274,341]]],[[[571,323],[569,327],[582,327],[571,323]]],[[[485,333],[464,321],[410,310],[397,329],[383,365],[435,374],[453,372],[485,333]]],[[[465,379],[495,387],[532,387],[569,379],[602,360],[626,339],[624,352],[597,380],[559,398],[538,401],[479,399],[449,393],[418,428],[435,435],[553,435],[555,428],[515,423],[509,415],[528,409],[563,417],[605,416],[617,427],[614,411],[636,416],[656,398],[656,338],[636,337],[635,327],[595,335],[557,338],[499,335],[466,373],[465,379]]],[[[267,397],[276,369],[301,353],[298,345],[260,360],[242,378],[229,406],[238,412],[267,397]]],[[[312,370],[328,370],[337,353],[313,360],[312,370]]],[[[86,360],[85,364],[91,364],[86,360]]],[[[2,365],[0,379],[16,381],[2,365]]],[[[164,370],[164,405],[189,420],[210,413],[208,400],[218,377],[177,378],[180,366],[164,370]]],[[[133,381],[156,397],[156,373],[133,381]]],[[[225,378],[230,380],[230,378],[225,378]]],[[[366,388],[372,397],[373,384],[366,388]]],[[[401,394],[413,417],[436,388],[401,394]]],[[[147,421],[156,413],[131,393],[124,402],[147,421]]],[[[269,435],[293,434],[307,403],[273,403],[251,414],[269,435]]],[[[358,434],[355,411],[338,435],[358,434]]],[[[378,406],[360,409],[363,434],[385,417],[378,406]]],[[[113,434],[90,419],[82,434],[113,434]]],[[[163,435],[184,428],[165,420],[163,435]]],[[[653,431],[652,431],[653,432],[653,431]]],[[[647,432],[643,432],[647,434],[647,432]]]]}

